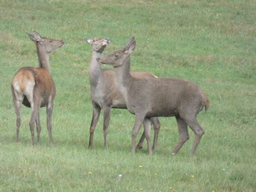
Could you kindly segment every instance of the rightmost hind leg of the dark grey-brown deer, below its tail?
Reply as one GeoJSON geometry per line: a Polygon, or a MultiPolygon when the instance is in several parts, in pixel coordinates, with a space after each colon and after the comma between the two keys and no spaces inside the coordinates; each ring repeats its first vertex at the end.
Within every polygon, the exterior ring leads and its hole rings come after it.
{"type": "Polygon", "coordinates": [[[201,128],[201,126],[199,125],[198,121],[196,118],[193,118],[192,120],[188,120],[187,124],[189,125],[189,127],[192,129],[192,131],[195,134],[195,141],[192,145],[192,149],[190,151],[190,155],[193,155],[195,153],[195,150],[201,140],[201,137],[204,134],[204,129],[201,128]]]}

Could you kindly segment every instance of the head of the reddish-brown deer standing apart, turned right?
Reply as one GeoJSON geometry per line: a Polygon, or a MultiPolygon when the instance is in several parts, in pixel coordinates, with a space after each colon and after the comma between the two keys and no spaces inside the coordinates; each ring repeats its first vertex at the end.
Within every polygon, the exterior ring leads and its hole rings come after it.
{"type": "Polygon", "coordinates": [[[33,35],[29,33],[27,34],[29,35],[31,41],[34,41],[35,44],[39,43],[47,53],[51,53],[65,44],[63,40],[55,40],[41,37],[41,35],[39,35],[39,33],[35,31],[33,32],[33,35]]]}

